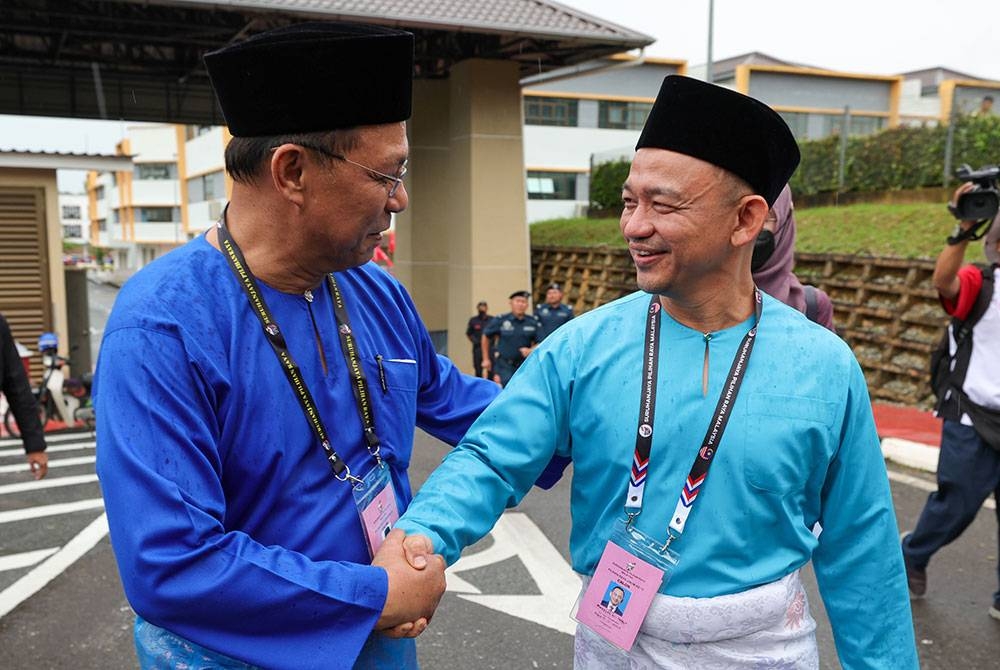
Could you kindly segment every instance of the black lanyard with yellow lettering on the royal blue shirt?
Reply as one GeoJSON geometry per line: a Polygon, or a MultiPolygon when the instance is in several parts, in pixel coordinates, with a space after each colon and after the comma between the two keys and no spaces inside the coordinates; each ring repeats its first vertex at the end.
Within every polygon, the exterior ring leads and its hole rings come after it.
{"type": "MultiPolygon", "coordinates": [[[[320,446],[323,447],[323,451],[326,453],[326,459],[333,470],[333,476],[342,482],[349,481],[352,485],[361,484],[362,480],[351,474],[351,469],[347,466],[347,463],[344,462],[330,444],[326,426],[319,415],[319,409],[313,401],[309,387],[306,386],[305,380],[302,379],[298,364],[292,358],[291,352],[288,351],[285,336],[282,334],[274,317],[271,316],[271,312],[267,308],[267,303],[264,302],[264,296],[257,285],[257,278],[254,277],[250,268],[247,267],[243,252],[240,251],[236,241],[229,234],[229,230],[222,219],[218,223],[218,232],[219,243],[225,252],[226,259],[229,261],[229,267],[239,280],[240,286],[243,287],[243,291],[247,295],[247,300],[250,301],[250,306],[257,314],[257,318],[260,319],[261,326],[264,328],[264,335],[274,350],[275,355],[277,355],[278,361],[281,363],[281,368],[284,370],[285,376],[288,378],[288,383],[291,384],[292,390],[295,392],[295,397],[302,406],[302,412],[305,414],[309,426],[312,428],[317,440],[319,440],[320,446]]],[[[333,278],[332,274],[327,275],[327,280],[330,284],[330,293],[333,296],[334,313],[337,318],[337,332],[340,334],[342,345],[341,349],[344,353],[344,359],[347,362],[347,369],[351,374],[354,400],[358,408],[358,414],[361,416],[362,427],[364,428],[365,444],[368,447],[368,453],[381,466],[382,457],[379,455],[381,442],[378,439],[378,435],[375,434],[375,419],[370,402],[371,396],[368,393],[368,383],[365,380],[364,371],[361,369],[361,361],[358,358],[358,349],[351,331],[350,318],[344,305],[343,296],[337,286],[337,281],[333,278]]],[[[311,292],[306,292],[306,299],[312,302],[311,292]]]]}

